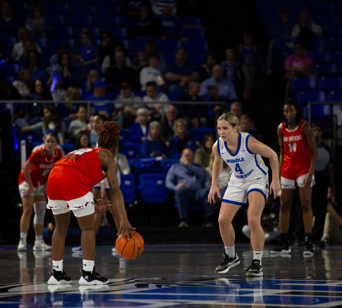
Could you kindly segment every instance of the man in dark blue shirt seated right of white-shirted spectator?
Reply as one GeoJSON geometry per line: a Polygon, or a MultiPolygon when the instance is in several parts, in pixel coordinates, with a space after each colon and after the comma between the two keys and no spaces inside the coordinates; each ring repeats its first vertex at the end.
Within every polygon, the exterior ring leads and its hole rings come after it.
{"type": "Polygon", "coordinates": [[[175,62],[166,69],[165,78],[168,80],[169,91],[182,91],[190,81],[198,79],[196,69],[187,63],[187,52],[179,48],[175,53],[175,62]]]}

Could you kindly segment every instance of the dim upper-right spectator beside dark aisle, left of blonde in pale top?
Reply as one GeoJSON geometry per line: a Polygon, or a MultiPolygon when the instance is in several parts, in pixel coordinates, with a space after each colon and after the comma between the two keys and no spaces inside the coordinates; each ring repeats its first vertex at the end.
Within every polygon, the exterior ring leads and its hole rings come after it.
{"type": "Polygon", "coordinates": [[[274,58],[274,43],[276,39],[287,39],[291,33],[291,23],[289,20],[289,12],[287,8],[281,7],[278,13],[278,19],[269,27],[271,40],[268,42],[267,57],[266,57],[266,73],[273,74],[273,58],[274,58]]]}

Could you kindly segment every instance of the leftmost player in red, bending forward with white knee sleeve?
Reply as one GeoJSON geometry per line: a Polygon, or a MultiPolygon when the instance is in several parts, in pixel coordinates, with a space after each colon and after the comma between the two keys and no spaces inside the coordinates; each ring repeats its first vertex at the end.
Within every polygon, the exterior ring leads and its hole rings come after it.
{"type": "Polygon", "coordinates": [[[47,174],[62,152],[57,149],[58,137],[54,133],[46,134],[44,145],[31,153],[19,173],[19,193],[22,198],[23,214],[20,219],[20,241],[18,251],[27,250],[27,232],[30,227],[32,210],[35,211],[33,226],[36,240],[33,250],[51,250],[43,241],[44,216],[46,211],[45,183],[47,174]]]}

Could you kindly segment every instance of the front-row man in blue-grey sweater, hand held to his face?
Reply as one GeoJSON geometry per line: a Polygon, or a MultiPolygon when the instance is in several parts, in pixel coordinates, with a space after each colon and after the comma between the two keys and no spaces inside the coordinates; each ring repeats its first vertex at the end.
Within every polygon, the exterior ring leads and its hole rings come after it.
{"type": "Polygon", "coordinates": [[[202,201],[205,206],[203,223],[212,226],[213,207],[208,202],[208,195],[202,191],[205,173],[201,165],[193,163],[194,153],[191,149],[185,148],[182,151],[180,162],[171,166],[166,179],[165,186],[175,193],[175,201],[178,205],[180,218],[179,227],[188,227],[188,204],[202,201]]]}

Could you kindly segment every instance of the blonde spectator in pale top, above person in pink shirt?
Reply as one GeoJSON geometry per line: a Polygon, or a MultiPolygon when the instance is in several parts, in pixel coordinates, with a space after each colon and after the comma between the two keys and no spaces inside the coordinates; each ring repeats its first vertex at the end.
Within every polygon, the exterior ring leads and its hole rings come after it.
{"type": "Polygon", "coordinates": [[[305,44],[307,40],[321,37],[321,26],[311,22],[309,12],[303,10],[298,14],[298,23],[292,28],[291,37],[305,44]]]}

